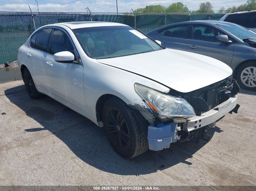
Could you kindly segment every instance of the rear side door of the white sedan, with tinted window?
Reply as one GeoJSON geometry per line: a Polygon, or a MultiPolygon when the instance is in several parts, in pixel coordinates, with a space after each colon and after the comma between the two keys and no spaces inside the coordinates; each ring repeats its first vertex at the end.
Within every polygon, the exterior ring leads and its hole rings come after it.
{"type": "Polygon", "coordinates": [[[48,44],[52,28],[38,30],[30,40],[27,63],[36,86],[50,93],[50,86],[45,73],[45,58],[49,51],[48,44]]]}

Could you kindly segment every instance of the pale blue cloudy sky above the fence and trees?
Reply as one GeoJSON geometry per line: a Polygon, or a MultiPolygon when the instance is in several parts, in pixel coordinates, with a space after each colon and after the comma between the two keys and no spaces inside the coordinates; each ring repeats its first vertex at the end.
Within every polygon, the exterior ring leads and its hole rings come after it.
{"type": "MultiPolygon", "coordinates": [[[[210,1],[214,10],[219,10],[221,6],[225,8],[233,5],[241,5],[246,0],[179,0],[187,5],[190,10],[198,9],[200,2],[210,1]]],[[[170,5],[175,0],[118,0],[118,12],[130,12],[146,5],[170,5]]],[[[37,11],[35,0],[0,0],[0,11],[37,11]]],[[[116,12],[116,0],[38,0],[40,12],[86,12],[88,7],[91,12],[116,12]]]]}

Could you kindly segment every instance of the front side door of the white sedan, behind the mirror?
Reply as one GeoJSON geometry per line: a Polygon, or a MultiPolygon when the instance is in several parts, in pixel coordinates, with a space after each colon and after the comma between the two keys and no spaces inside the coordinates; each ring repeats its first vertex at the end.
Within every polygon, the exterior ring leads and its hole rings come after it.
{"type": "Polygon", "coordinates": [[[78,57],[74,50],[75,47],[68,33],[54,28],[50,40],[50,53],[47,54],[45,60],[48,65],[46,73],[52,95],[75,109],[83,111],[85,108],[83,66],[77,61],[78,57]],[[72,63],[56,62],[53,55],[62,51],[73,53],[75,61],[72,63]]]}

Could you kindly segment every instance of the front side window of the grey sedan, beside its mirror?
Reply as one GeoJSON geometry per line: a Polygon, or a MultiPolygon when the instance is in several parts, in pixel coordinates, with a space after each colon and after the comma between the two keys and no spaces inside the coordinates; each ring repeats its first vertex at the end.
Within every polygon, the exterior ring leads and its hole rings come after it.
{"type": "Polygon", "coordinates": [[[224,33],[214,27],[202,24],[194,24],[191,39],[218,42],[215,37],[221,34],[224,33]]]}

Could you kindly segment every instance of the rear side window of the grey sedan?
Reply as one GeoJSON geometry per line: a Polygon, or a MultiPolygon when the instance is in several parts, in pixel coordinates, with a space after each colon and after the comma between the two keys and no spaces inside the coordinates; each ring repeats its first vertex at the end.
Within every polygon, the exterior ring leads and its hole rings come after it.
{"type": "Polygon", "coordinates": [[[188,38],[188,30],[189,25],[183,24],[161,29],[158,33],[165,37],[188,38]]]}

